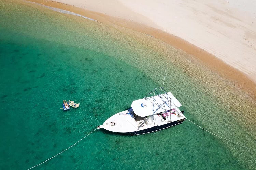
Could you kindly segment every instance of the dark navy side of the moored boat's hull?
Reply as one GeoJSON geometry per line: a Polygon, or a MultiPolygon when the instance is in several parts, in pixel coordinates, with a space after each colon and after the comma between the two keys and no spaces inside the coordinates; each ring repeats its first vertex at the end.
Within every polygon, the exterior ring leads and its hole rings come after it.
{"type": "MultiPolygon", "coordinates": [[[[174,121],[174,122],[166,123],[166,124],[163,124],[163,125],[160,125],[160,126],[156,125],[156,126],[153,126],[151,128],[138,130],[138,131],[133,131],[133,132],[114,132],[114,133],[123,134],[123,135],[142,135],[142,134],[145,134],[145,133],[155,132],[155,131],[159,131],[159,130],[162,130],[162,129],[169,128],[171,126],[181,124],[184,120],[185,120],[185,118],[174,121]]],[[[110,131],[110,132],[112,132],[112,131],[110,131]]]]}

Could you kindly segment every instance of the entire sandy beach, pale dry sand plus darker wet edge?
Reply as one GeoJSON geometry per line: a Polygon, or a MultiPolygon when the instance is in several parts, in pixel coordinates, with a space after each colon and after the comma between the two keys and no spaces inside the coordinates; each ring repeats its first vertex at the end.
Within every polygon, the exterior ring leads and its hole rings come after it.
{"type": "Polygon", "coordinates": [[[154,36],[256,94],[256,3],[252,0],[31,1],[154,36]]]}

